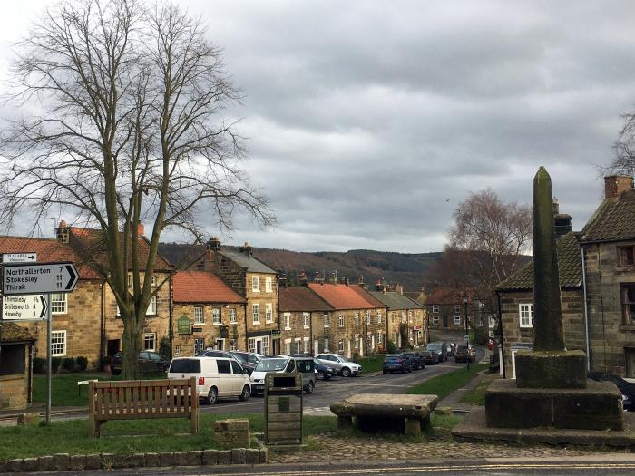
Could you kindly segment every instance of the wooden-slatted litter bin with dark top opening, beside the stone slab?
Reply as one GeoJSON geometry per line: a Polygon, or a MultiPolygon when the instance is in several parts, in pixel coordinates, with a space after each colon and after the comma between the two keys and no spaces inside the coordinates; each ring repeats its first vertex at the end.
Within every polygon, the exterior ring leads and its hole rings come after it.
{"type": "Polygon", "coordinates": [[[302,443],[302,375],[297,372],[265,377],[265,442],[302,443]]]}

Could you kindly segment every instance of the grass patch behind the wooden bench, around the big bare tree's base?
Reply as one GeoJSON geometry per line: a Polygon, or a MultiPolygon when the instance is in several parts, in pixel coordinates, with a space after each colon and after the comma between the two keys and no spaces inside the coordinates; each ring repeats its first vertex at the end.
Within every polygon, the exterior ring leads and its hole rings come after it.
{"type": "MultiPolygon", "coordinates": [[[[142,380],[166,378],[165,374],[145,374],[142,380]]],[[[52,406],[88,406],[88,385],[77,388],[77,382],[82,380],[122,380],[121,375],[97,374],[59,374],[51,379],[52,406]]],[[[34,375],[33,378],[34,403],[46,403],[46,375],[34,375]]]]}

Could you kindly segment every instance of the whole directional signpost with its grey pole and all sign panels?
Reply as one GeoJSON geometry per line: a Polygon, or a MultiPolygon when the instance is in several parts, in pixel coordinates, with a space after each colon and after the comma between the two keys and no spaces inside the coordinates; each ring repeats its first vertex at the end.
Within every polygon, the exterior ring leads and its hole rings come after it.
{"type": "MultiPolygon", "coordinates": [[[[9,307],[13,310],[10,313],[16,313],[22,316],[23,311],[28,314],[29,311],[33,315],[39,311],[46,315],[46,423],[51,423],[51,293],[70,293],[75,288],[79,280],[79,274],[70,261],[62,261],[59,263],[29,263],[28,260],[34,253],[15,253],[15,257],[9,255],[9,259],[15,258],[16,262],[6,262],[3,255],[2,263],[2,294],[3,294],[3,319],[5,319],[5,306],[10,299],[9,307]],[[26,255],[26,256],[23,256],[26,255]],[[27,259],[24,260],[24,257],[27,259]],[[24,262],[26,261],[26,262],[24,262]],[[44,294],[45,299],[36,304],[29,299],[34,296],[44,294]],[[26,296],[24,296],[26,295],[26,296]],[[24,299],[24,303],[21,301],[24,299]],[[11,304],[13,303],[13,304],[11,304]],[[26,305],[23,309],[21,306],[26,305]]],[[[42,296],[40,296],[42,297],[42,296]]]]}

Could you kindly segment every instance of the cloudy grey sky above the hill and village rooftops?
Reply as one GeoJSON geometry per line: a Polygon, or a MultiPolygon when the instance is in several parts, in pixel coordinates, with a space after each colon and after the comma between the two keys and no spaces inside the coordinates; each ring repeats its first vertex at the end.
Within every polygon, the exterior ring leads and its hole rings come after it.
{"type": "MultiPolygon", "coordinates": [[[[228,114],[278,219],[239,219],[228,244],[439,251],[470,193],[530,203],[541,165],[580,229],[635,109],[629,0],[176,3],[245,94],[228,114]]],[[[3,4],[0,71],[44,5],[3,4]]]]}

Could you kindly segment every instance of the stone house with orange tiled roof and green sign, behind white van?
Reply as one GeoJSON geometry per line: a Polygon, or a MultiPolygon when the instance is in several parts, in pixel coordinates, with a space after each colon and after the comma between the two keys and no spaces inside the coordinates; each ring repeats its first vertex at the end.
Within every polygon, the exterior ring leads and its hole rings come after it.
{"type": "Polygon", "coordinates": [[[209,271],[178,271],[173,277],[172,355],[196,355],[208,347],[248,347],[247,300],[209,271]]]}

